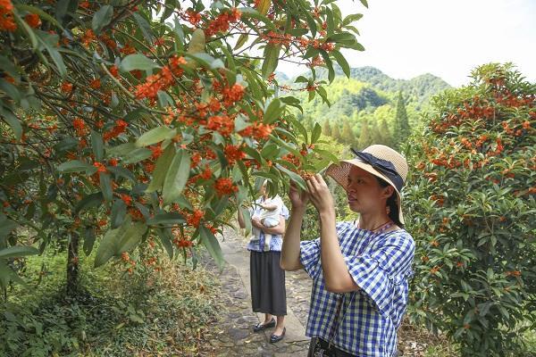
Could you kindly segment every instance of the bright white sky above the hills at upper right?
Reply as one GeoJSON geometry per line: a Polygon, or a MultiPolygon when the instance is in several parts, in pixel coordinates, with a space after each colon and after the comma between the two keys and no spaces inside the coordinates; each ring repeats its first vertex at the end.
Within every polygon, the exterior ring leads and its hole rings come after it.
{"type": "MultiPolygon", "coordinates": [[[[337,1],[355,22],[364,52],[344,52],[351,67],[373,66],[395,79],[431,73],[452,86],[466,84],[474,67],[514,62],[536,81],[536,0],[337,1]]],[[[289,76],[296,65],[280,63],[289,76]]],[[[299,70],[305,71],[305,70],[299,70]]]]}

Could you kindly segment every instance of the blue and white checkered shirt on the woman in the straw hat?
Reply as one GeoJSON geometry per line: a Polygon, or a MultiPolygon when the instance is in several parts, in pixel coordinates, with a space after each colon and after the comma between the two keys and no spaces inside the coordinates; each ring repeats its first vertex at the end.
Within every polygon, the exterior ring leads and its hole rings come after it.
{"type": "MultiPolygon", "coordinates": [[[[332,345],[360,357],[390,357],[397,351],[397,329],[406,312],[414,239],[404,229],[376,235],[352,222],[339,222],[336,229],[348,271],[360,289],[342,294],[332,345]]],[[[301,242],[300,262],[313,278],[306,336],[329,341],[341,294],[326,290],[320,238],[301,242]]]]}

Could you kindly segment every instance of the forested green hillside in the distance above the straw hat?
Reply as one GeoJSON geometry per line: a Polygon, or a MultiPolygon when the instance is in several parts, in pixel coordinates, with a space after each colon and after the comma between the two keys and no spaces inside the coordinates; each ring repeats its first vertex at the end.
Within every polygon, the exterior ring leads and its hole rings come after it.
{"type": "MultiPolygon", "coordinates": [[[[317,80],[327,78],[324,69],[316,73],[317,80]]],[[[335,75],[327,93],[331,106],[319,95],[308,102],[309,93],[303,91],[297,96],[303,100],[304,112],[297,112],[297,116],[306,128],[318,122],[324,134],[359,148],[372,143],[397,146],[418,127],[420,113],[427,109],[431,96],[450,87],[430,73],[409,80],[392,79],[374,67],[352,68],[349,79],[336,67],[335,75]]],[[[283,73],[276,77],[282,86],[305,87],[295,83],[296,78],[289,79],[283,73]]]]}

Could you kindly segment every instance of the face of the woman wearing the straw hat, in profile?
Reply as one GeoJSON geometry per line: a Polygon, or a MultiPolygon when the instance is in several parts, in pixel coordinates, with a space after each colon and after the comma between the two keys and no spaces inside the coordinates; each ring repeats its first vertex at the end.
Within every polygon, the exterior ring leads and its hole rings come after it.
{"type": "Polygon", "coordinates": [[[348,175],[348,205],[353,212],[374,212],[385,207],[393,187],[381,187],[376,177],[356,166],[348,175]]]}

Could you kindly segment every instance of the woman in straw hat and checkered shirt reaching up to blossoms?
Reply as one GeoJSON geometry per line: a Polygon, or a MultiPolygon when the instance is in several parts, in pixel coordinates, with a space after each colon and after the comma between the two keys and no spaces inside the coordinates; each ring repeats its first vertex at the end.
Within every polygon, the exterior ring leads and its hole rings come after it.
{"type": "Polygon", "coordinates": [[[385,145],[352,152],[354,159],[332,164],[326,173],[347,191],[359,219],[336,222],[333,198],[318,174],[306,179],[306,191],[291,186],[281,268],[305,269],[313,278],[309,356],[390,357],[397,355],[415,253],[400,204],[407,163],[385,145]],[[321,233],[300,243],[308,202],[319,213],[321,233]]]}

